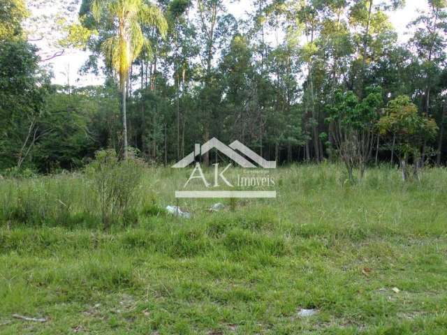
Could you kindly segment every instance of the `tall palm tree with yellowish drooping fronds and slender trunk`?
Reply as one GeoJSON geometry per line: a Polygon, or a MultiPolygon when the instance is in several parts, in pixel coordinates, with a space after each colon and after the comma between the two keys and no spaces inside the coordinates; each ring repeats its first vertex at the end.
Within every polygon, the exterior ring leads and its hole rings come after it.
{"type": "Polygon", "coordinates": [[[142,34],[142,25],[159,29],[161,36],[166,35],[168,23],[161,10],[145,0],[94,0],[91,13],[97,22],[104,17],[115,35],[101,45],[105,59],[119,76],[119,88],[122,92],[124,159],[127,158],[127,121],[126,121],[126,82],[129,69],[143,47],[151,50],[149,40],[142,34]]]}

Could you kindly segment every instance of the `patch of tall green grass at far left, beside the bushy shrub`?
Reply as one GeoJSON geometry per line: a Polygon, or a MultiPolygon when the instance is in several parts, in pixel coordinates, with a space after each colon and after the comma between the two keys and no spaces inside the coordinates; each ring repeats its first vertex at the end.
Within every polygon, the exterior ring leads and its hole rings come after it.
{"type": "Polygon", "coordinates": [[[1,182],[0,221],[10,226],[98,227],[95,205],[84,181],[75,174],[36,177],[29,170],[11,169],[1,182]],[[20,187],[19,184],[20,183],[20,187]]]}

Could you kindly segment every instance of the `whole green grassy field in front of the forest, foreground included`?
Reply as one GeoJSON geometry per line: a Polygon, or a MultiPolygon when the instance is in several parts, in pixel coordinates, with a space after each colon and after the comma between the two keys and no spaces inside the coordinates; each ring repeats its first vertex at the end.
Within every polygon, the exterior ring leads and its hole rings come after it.
{"type": "Polygon", "coordinates": [[[189,172],[147,170],[108,231],[82,174],[0,180],[0,334],[446,334],[446,169],[302,165],[276,200],[156,210],[189,172]]]}

